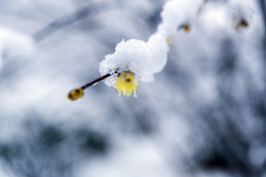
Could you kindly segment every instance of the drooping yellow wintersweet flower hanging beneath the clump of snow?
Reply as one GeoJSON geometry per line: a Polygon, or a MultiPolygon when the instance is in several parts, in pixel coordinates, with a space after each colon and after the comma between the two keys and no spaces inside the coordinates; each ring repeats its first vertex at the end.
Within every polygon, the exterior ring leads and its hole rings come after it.
{"type": "MultiPolygon", "coordinates": [[[[116,87],[119,92],[119,96],[121,95],[121,91],[126,96],[130,96],[133,90],[133,93],[136,91],[138,83],[134,82],[135,76],[133,72],[126,71],[118,74],[118,78],[116,81],[116,87]]],[[[137,78],[139,79],[139,78],[137,78]]]]}

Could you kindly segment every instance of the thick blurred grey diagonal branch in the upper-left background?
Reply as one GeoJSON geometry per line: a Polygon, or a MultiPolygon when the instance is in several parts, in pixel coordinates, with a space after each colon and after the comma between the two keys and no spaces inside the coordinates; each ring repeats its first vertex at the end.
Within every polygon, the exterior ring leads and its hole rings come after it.
{"type": "Polygon", "coordinates": [[[60,17],[48,24],[46,27],[38,30],[33,34],[33,38],[35,42],[40,42],[59,29],[63,29],[77,21],[86,19],[93,14],[99,13],[101,10],[106,10],[106,7],[108,7],[108,5],[104,3],[95,3],[82,7],[74,13],[60,17]]]}

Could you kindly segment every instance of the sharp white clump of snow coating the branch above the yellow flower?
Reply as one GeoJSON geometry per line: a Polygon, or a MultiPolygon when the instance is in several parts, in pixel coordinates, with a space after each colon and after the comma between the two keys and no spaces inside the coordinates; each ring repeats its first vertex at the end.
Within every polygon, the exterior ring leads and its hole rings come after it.
{"type": "MultiPolygon", "coordinates": [[[[134,82],[135,85],[138,84],[138,80],[146,83],[153,82],[154,74],[161,72],[166,65],[172,36],[177,32],[178,26],[196,14],[199,2],[200,0],[196,0],[194,5],[191,5],[186,0],[168,1],[161,14],[163,23],[159,25],[157,32],[151,35],[147,42],[138,39],[128,41],[123,39],[118,43],[115,53],[106,55],[100,62],[101,76],[112,74],[104,80],[104,83],[117,88],[118,76],[127,72],[133,74],[133,81],[130,82],[134,82]]],[[[126,81],[122,80],[122,83],[126,84],[126,81]]],[[[119,95],[120,93],[121,90],[119,95]]],[[[127,93],[128,96],[130,94],[127,93]]]]}

